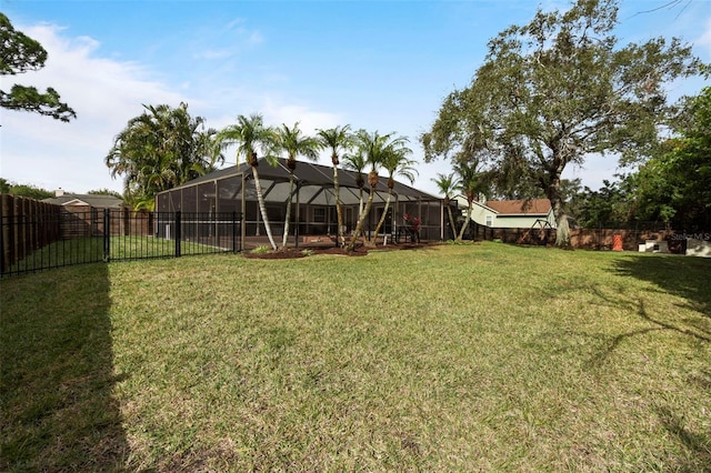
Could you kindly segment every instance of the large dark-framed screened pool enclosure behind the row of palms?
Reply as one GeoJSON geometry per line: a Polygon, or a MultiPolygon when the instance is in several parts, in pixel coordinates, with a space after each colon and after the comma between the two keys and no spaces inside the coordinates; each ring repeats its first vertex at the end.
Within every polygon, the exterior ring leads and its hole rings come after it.
{"type": "MultiPolygon", "coordinates": [[[[283,234],[286,203],[289,193],[289,170],[286,160],[279,159],[276,167],[264,159],[259,160],[259,180],[264,195],[267,214],[276,239],[283,234]]],[[[358,223],[361,191],[357,184],[357,173],[338,170],[343,230],[350,235],[358,223]]],[[[370,188],[365,184],[362,200],[368,200],[370,188]]],[[[364,231],[370,235],[383,213],[388,199],[388,179],[381,177],[373,194],[373,205],[365,221],[364,231]]],[[[183,185],[161,192],[156,197],[159,212],[199,212],[201,214],[228,214],[244,217],[241,225],[244,245],[250,248],[266,235],[259,212],[251,167],[240,164],[200,177],[183,185]],[[251,243],[251,244],[250,244],[251,243]]],[[[419,191],[401,182],[395,182],[390,208],[380,234],[394,235],[404,224],[403,217],[420,218],[421,240],[444,240],[449,238],[444,228],[445,209],[441,199],[419,191]]],[[[333,191],[333,168],[299,161],[294,171],[289,243],[298,245],[309,241],[308,236],[334,236],[338,218],[333,191]]],[[[164,230],[159,229],[159,233],[164,230]]],[[[311,239],[313,240],[313,239],[311,239]]]]}

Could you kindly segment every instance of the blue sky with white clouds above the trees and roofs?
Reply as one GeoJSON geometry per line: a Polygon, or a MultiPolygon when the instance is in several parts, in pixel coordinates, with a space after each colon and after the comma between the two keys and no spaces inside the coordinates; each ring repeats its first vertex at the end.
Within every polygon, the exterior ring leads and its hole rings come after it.
{"type": "MultiPolygon", "coordinates": [[[[418,137],[444,98],[465,88],[487,42],[537,8],[563,0],[0,0],[16,30],[49,53],[40,71],[2,77],[52,87],[77,112],[70,123],[0,110],[0,177],[22,184],[84,193],[121,192],[104,164],[114,137],[143,104],[189,105],[210,128],[261,113],[267,124],[309,134],[350,124],[410,139],[418,189],[447,161],[425,164],[418,137]]],[[[622,0],[620,43],[662,36],[693,44],[711,62],[711,0],[622,0]]],[[[671,84],[669,95],[698,93],[701,79],[671,84]]],[[[233,164],[233,153],[226,165],[233,164]]],[[[320,163],[330,165],[323,153],[320,163]]],[[[589,157],[563,178],[595,190],[613,179],[614,158],[589,157]]]]}

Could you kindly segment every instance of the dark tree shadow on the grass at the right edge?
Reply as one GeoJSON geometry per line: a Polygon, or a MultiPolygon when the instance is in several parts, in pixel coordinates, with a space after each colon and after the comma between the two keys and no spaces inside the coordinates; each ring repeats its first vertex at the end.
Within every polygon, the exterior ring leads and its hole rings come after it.
{"type": "Polygon", "coordinates": [[[711,260],[692,256],[630,255],[614,262],[618,274],[653,283],[687,300],[688,309],[711,318],[711,260]]]}

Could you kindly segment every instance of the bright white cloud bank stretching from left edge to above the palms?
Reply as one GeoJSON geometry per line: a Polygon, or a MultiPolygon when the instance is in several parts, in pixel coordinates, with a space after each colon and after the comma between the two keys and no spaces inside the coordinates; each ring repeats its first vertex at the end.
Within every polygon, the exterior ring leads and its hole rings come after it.
{"type": "Polygon", "coordinates": [[[36,113],[3,111],[0,175],[10,181],[72,192],[121,191],[122,182],[111,179],[104,158],[114,135],[142,113],[143,103],[176,107],[186,101],[191,113],[206,117],[207,124],[217,129],[233,123],[239,113],[251,112],[262,113],[274,125],[299,121],[306,133],[341,124],[337,113],[289,104],[278,93],[231,81],[201,88],[200,95],[188,98],[180,92],[188,85],[184,82],[172,89],[143,64],[102,58],[96,39],[70,38],[49,24],[16,28],[37,39],[49,59],[40,71],[11,79],[41,90],[53,87],[78,118],[63,123],[36,113]]]}

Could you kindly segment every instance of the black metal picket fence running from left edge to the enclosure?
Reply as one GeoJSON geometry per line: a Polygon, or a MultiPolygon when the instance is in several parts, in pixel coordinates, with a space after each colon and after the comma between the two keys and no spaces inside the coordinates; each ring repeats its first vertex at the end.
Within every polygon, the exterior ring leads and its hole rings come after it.
{"type": "Polygon", "coordinates": [[[242,215],[128,209],[2,214],[0,275],[73,264],[242,251],[242,215]],[[51,238],[38,238],[51,235],[51,238]]]}

